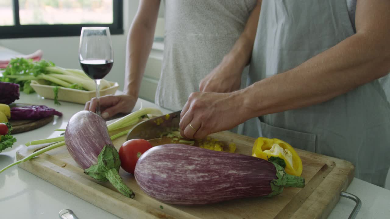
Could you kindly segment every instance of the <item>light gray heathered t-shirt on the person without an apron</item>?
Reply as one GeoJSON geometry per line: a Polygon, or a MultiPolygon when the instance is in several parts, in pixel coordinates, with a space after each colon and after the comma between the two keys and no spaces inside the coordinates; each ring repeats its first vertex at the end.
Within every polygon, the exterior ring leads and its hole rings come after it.
{"type": "Polygon", "coordinates": [[[192,92],[199,91],[200,81],[229,53],[257,0],[164,3],[164,58],[155,103],[176,111],[183,108],[192,92]]]}

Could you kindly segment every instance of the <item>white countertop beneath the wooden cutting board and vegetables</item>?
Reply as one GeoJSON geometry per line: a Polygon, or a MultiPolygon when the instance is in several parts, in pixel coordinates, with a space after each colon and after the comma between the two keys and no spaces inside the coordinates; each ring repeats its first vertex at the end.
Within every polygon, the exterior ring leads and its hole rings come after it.
{"type": "MultiPolygon", "coordinates": [[[[16,102],[46,105],[62,112],[63,116],[60,118],[56,116],[52,123],[41,128],[15,134],[14,136],[18,141],[12,148],[7,148],[0,153],[0,169],[16,161],[16,151],[25,147],[24,144],[28,141],[58,136],[60,132],[54,131],[54,129],[64,129],[71,116],[84,107],[81,104],[64,101],[61,101],[60,106],[56,106],[52,100],[42,99],[37,94],[27,95],[23,92],[20,95],[20,99],[16,102]]],[[[143,107],[158,108],[151,102],[139,99],[135,110],[140,108],[141,102],[143,107]]],[[[163,113],[169,112],[167,109],[161,109],[161,111],[163,113]]],[[[356,218],[381,219],[390,217],[388,204],[390,202],[390,190],[354,178],[346,192],[355,194],[362,200],[362,208],[356,218]]],[[[328,219],[346,219],[354,206],[354,201],[340,198],[339,203],[337,203],[328,219]]],[[[79,219],[119,218],[36,177],[18,166],[13,166],[0,174],[1,218],[53,219],[59,218],[58,212],[66,208],[73,210],[79,219]]]]}

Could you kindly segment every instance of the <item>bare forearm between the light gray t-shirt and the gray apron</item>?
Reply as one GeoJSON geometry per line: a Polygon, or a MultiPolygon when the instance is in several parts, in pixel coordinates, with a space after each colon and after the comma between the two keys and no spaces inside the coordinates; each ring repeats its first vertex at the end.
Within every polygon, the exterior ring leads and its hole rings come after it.
{"type": "Polygon", "coordinates": [[[258,1],[256,7],[250,14],[243,33],[237,39],[230,52],[225,55],[222,62],[227,65],[237,66],[239,69],[244,69],[249,64],[255,42],[260,9],[261,0],[258,1]]]}

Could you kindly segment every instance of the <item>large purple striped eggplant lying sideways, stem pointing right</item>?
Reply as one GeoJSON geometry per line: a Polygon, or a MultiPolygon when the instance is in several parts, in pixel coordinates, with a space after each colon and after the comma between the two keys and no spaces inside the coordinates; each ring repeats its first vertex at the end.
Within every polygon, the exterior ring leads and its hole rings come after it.
{"type": "Polygon", "coordinates": [[[147,150],[137,161],[135,179],[153,198],[181,205],[274,196],[284,187],[305,186],[304,178],[286,174],[276,162],[181,144],[147,150]]]}

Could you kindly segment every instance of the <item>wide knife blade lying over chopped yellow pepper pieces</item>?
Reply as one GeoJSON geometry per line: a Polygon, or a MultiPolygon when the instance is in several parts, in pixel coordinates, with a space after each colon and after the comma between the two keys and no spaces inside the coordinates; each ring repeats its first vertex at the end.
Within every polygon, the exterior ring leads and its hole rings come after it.
{"type": "Polygon", "coordinates": [[[165,134],[167,132],[178,131],[180,113],[181,110],[140,122],[130,129],[126,137],[126,141],[136,138],[150,140],[153,138],[160,138],[161,134],[165,134]]]}

